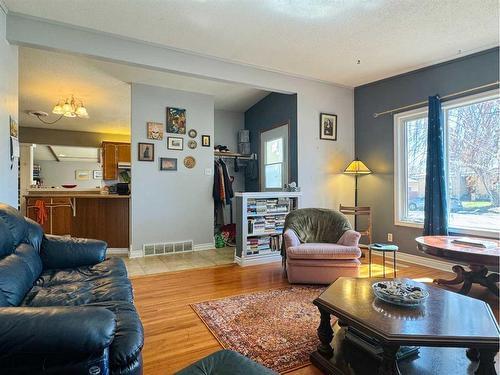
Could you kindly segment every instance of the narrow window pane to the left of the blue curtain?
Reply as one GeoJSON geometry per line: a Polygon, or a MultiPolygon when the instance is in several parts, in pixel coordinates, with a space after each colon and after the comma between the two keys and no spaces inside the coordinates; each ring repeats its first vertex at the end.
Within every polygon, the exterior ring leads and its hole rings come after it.
{"type": "Polygon", "coordinates": [[[406,221],[424,222],[425,168],[427,161],[427,118],[406,121],[406,221]]]}

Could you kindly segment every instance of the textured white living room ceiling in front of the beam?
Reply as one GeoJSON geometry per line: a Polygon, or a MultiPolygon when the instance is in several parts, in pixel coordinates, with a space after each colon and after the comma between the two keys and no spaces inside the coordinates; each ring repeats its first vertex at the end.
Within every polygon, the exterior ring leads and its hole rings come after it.
{"type": "Polygon", "coordinates": [[[499,44],[498,0],[4,1],[18,13],[347,86],[499,44]]]}

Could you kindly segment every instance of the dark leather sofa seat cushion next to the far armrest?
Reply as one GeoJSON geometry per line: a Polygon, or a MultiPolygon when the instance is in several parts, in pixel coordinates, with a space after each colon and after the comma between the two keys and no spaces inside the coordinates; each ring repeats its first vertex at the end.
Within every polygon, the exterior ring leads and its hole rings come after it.
{"type": "Polygon", "coordinates": [[[111,276],[127,276],[127,268],[122,259],[109,258],[93,266],[67,268],[62,270],[46,270],[40,275],[36,281],[36,285],[49,287],[58,284],[84,282],[111,276]]]}

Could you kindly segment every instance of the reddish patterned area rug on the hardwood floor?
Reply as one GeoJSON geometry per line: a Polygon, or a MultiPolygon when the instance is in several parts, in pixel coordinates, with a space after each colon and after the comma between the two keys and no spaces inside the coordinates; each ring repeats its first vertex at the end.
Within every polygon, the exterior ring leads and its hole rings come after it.
{"type": "Polygon", "coordinates": [[[307,366],[319,343],[322,287],[291,286],[192,304],[225,349],[279,373],[307,366]]]}

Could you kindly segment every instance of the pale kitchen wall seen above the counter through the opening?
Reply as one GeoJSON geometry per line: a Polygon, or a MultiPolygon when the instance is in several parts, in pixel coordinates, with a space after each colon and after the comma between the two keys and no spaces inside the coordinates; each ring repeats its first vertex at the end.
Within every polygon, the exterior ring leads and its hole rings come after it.
{"type": "Polygon", "coordinates": [[[45,187],[57,187],[63,184],[77,184],[79,188],[101,187],[102,179],[94,180],[93,171],[101,170],[101,164],[88,161],[52,161],[35,160],[40,165],[40,177],[45,187]],[[76,170],[89,171],[89,180],[77,180],[76,170]]]}

